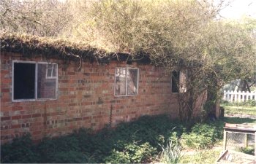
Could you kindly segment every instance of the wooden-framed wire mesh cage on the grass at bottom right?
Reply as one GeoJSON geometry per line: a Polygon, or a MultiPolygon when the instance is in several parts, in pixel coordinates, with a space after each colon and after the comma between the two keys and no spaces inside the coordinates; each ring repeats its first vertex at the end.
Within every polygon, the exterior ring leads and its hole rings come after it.
{"type": "Polygon", "coordinates": [[[256,125],[225,124],[224,152],[217,162],[256,163],[256,125]]]}

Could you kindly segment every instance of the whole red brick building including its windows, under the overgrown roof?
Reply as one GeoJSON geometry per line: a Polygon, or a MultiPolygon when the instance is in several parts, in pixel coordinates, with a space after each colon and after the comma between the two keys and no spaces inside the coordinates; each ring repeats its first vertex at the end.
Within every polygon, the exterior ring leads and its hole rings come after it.
{"type": "Polygon", "coordinates": [[[1,46],[1,143],[26,132],[40,140],[78,128],[99,130],[145,114],[178,117],[176,84],[161,67],[126,54],[67,63],[55,55],[58,48],[49,56],[51,45],[12,43],[1,46]]]}

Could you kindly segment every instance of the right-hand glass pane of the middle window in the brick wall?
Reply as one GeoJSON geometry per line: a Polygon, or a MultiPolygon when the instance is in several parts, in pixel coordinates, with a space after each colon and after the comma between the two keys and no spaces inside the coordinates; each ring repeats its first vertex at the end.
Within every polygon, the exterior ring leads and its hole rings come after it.
{"type": "Polygon", "coordinates": [[[127,72],[128,95],[138,94],[138,69],[128,69],[127,72]]]}

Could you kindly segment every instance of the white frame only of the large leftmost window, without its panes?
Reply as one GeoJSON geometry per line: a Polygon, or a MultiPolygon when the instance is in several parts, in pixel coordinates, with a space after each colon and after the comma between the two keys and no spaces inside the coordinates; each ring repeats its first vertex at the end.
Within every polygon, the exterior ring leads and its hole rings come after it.
{"type": "Polygon", "coordinates": [[[12,102],[23,102],[23,101],[47,101],[47,100],[57,100],[58,99],[58,63],[50,63],[50,64],[56,64],[56,98],[37,98],[37,66],[38,64],[49,64],[48,62],[36,62],[36,61],[23,61],[23,60],[12,60],[12,102]],[[34,76],[34,98],[31,99],[14,99],[14,63],[34,63],[35,64],[35,76],[34,76]]]}

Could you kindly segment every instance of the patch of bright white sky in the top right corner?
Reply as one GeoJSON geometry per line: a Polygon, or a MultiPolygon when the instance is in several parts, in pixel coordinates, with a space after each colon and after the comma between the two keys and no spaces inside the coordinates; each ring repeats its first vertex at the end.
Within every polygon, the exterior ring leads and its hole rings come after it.
{"type": "Polygon", "coordinates": [[[230,5],[222,9],[220,15],[226,19],[239,19],[243,16],[256,18],[256,0],[231,0],[230,5]]]}

